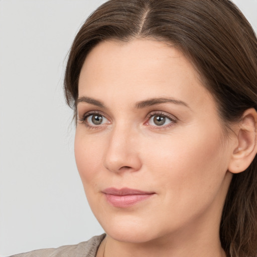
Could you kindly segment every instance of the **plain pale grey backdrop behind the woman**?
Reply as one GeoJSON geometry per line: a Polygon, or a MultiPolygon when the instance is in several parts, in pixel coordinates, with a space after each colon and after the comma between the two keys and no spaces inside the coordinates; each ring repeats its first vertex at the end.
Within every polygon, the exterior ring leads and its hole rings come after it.
{"type": "MultiPolygon", "coordinates": [[[[76,32],[104,2],[0,0],[1,256],[103,233],[76,169],[62,84],[76,32]]],[[[257,31],[257,0],[234,2],[257,31]]]]}

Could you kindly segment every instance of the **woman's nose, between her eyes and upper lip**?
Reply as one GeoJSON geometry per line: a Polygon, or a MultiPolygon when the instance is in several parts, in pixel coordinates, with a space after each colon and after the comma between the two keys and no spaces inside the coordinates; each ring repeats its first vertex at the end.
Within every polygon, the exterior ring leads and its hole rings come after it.
{"type": "Polygon", "coordinates": [[[115,173],[139,171],[142,167],[138,153],[138,136],[133,129],[116,126],[109,136],[103,165],[115,173]]]}

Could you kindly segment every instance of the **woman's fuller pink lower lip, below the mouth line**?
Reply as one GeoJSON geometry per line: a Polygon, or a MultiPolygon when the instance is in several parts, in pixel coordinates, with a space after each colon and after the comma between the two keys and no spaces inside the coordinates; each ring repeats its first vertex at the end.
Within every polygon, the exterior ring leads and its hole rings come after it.
{"type": "Polygon", "coordinates": [[[107,201],[114,207],[126,208],[144,201],[154,194],[138,194],[138,195],[110,195],[105,194],[107,201]]]}

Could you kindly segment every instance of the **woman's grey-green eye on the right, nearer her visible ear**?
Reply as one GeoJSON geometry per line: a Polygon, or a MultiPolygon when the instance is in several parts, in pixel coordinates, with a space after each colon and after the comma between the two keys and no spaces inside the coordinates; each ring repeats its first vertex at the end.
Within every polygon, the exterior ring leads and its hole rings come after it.
{"type": "Polygon", "coordinates": [[[172,117],[168,114],[164,113],[150,113],[148,115],[149,119],[146,125],[155,126],[155,127],[165,127],[169,125],[173,125],[177,122],[175,117],[172,117]]]}

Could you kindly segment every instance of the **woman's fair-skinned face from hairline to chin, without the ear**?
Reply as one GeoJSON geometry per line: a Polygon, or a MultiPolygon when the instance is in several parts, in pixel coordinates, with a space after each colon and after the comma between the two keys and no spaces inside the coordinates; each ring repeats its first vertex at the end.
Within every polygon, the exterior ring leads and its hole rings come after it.
{"type": "Polygon", "coordinates": [[[81,70],[77,108],[76,163],[109,236],[218,233],[232,144],[179,50],[151,40],[98,44],[81,70]]]}

